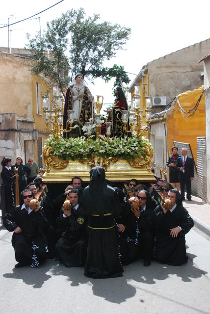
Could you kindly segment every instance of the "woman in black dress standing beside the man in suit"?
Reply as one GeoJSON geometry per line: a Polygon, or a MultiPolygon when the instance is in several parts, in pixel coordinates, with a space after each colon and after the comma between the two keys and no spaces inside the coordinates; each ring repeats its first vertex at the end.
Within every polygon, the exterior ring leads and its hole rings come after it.
{"type": "Polygon", "coordinates": [[[180,181],[179,181],[179,172],[175,169],[177,164],[177,158],[180,157],[178,152],[178,147],[172,147],[172,155],[169,157],[166,165],[169,167],[169,182],[176,188],[178,191],[180,190],[180,181]]]}

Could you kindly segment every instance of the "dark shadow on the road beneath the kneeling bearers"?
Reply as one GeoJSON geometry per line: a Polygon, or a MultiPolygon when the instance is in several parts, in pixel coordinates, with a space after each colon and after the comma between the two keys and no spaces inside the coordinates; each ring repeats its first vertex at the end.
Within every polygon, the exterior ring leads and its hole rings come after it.
{"type": "MultiPolygon", "coordinates": [[[[194,257],[192,254],[188,255],[190,259],[194,257]]],[[[86,278],[82,267],[67,268],[57,261],[47,260],[37,268],[31,268],[30,266],[20,269],[14,268],[12,273],[5,273],[3,277],[21,279],[26,285],[41,288],[51,277],[64,276],[67,277],[71,287],[82,284],[91,285],[94,295],[102,297],[106,301],[120,304],[136,294],[135,282],[155,285],[158,281],[167,280],[170,275],[176,275],[184,282],[191,282],[193,278],[199,278],[207,273],[197,268],[190,259],[187,264],[182,266],[152,262],[149,267],[144,267],[143,261],[138,260],[124,266],[123,277],[110,279],[86,278]],[[50,275],[47,273],[50,273],[50,275]]],[[[143,300],[140,301],[143,302],[143,300]]]]}

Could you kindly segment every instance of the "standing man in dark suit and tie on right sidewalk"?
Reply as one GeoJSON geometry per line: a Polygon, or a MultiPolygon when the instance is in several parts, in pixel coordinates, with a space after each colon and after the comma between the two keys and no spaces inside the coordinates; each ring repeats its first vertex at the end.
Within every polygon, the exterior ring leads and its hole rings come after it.
{"type": "Polygon", "coordinates": [[[179,171],[181,197],[184,200],[184,185],[186,185],[186,198],[191,201],[191,181],[194,178],[194,160],[187,156],[187,149],[182,149],[182,156],[177,158],[176,170],[179,171]]]}

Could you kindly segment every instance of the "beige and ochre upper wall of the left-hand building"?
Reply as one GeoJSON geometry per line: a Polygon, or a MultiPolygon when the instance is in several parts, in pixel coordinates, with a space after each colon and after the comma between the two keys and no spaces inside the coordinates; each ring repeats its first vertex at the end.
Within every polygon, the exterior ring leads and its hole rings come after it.
{"type": "MultiPolygon", "coordinates": [[[[0,114],[16,113],[19,118],[34,121],[33,129],[38,131],[38,137],[49,137],[45,129],[41,98],[41,111],[37,113],[36,83],[40,84],[41,96],[50,90],[46,79],[31,74],[31,59],[12,53],[0,52],[0,114]]],[[[51,94],[51,93],[50,93],[51,94]]],[[[33,149],[26,148],[26,159],[32,154],[37,162],[37,140],[33,140],[33,149]]],[[[40,155],[40,154],[39,154],[40,155]]]]}

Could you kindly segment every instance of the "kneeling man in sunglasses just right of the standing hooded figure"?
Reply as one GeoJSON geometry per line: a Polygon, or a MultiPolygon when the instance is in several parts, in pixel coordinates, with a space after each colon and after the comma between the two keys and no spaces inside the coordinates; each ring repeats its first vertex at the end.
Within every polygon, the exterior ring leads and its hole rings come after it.
{"type": "Polygon", "coordinates": [[[153,220],[155,218],[154,203],[147,190],[140,190],[138,196],[131,197],[129,203],[138,203],[139,207],[131,206],[130,239],[135,239],[138,255],[142,256],[144,266],[151,265],[153,257],[153,220]],[[138,233],[138,237],[135,236],[138,233]]]}

